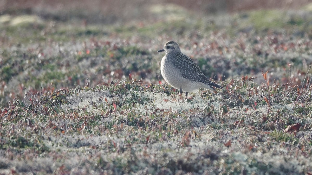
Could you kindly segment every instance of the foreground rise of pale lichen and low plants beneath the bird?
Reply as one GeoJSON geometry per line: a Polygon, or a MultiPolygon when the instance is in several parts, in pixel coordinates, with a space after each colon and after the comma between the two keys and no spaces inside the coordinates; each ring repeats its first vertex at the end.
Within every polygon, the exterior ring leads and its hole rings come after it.
{"type": "Polygon", "coordinates": [[[220,83],[187,99],[131,78],[16,100],[2,109],[2,172],[309,173],[311,90],[271,86],[268,107],[266,86],[220,83]]]}

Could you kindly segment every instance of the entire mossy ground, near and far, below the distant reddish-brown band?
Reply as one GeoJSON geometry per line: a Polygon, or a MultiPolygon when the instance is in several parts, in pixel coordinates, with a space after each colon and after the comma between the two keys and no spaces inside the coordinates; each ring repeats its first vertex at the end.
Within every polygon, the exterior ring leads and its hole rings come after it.
{"type": "Polygon", "coordinates": [[[172,12],[0,16],[0,173],[311,173],[311,12],[172,12]],[[181,98],[160,76],[168,40],[224,89],[181,98]]]}

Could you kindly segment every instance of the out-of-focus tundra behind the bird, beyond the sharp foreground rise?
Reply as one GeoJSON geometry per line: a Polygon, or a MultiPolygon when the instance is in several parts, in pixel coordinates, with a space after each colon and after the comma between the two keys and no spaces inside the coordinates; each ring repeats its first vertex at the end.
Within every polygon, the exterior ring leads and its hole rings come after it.
{"type": "Polygon", "coordinates": [[[300,86],[311,73],[311,2],[0,0],[0,107],[130,73],[158,83],[169,40],[212,80],[261,85],[268,71],[271,84],[300,86]]]}

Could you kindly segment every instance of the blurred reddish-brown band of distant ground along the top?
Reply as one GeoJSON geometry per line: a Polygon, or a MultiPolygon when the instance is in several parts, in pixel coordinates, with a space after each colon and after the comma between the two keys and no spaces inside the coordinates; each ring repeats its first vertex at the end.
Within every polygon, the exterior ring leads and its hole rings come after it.
{"type": "MultiPolygon", "coordinates": [[[[259,9],[298,10],[310,0],[1,0],[2,14],[37,14],[55,20],[87,19],[115,23],[155,18],[153,6],[185,8],[197,14],[234,13],[259,9]]],[[[163,9],[164,10],[164,9],[163,9]]],[[[168,9],[167,9],[168,10],[168,9]]]]}

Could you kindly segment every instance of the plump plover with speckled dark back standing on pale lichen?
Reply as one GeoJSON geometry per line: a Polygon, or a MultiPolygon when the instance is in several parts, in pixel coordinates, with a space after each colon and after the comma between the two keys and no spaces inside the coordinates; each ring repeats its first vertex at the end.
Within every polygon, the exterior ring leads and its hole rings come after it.
{"type": "Polygon", "coordinates": [[[161,75],[165,81],[172,87],[180,90],[180,94],[193,92],[199,88],[215,90],[223,87],[210,81],[203,73],[199,66],[187,55],[181,52],[177,42],[168,41],[162,50],[165,52],[160,64],[161,75]]]}

